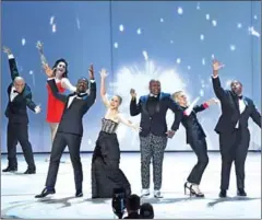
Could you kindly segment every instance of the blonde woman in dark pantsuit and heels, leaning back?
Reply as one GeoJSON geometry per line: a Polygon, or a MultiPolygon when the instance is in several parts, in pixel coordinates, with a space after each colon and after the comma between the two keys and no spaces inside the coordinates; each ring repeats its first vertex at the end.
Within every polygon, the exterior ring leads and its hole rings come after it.
{"type": "Polygon", "coordinates": [[[176,114],[176,120],[181,121],[187,134],[187,143],[198,157],[198,163],[192,169],[187,182],[184,183],[184,194],[188,188],[190,196],[204,197],[204,194],[200,190],[199,185],[201,183],[202,175],[209,163],[207,148],[205,141],[205,132],[198,120],[196,113],[206,109],[212,104],[217,104],[216,99],[209,100],[204,104],[195,105],[195,100],[190,106],[188,105],[187,95],[182,92],[176,92],[172,94],[172,99],[180,107],[180,114],[176,114]]]}

